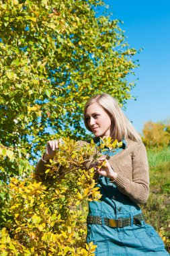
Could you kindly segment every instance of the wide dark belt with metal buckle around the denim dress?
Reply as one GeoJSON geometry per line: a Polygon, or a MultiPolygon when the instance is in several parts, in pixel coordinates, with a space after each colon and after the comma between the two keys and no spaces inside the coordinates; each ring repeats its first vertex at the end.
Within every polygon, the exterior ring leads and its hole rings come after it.
{"type": "MultiPolygon", "coordinates": [[[[133,216],[133,224],[140,224],[141,221],[144,220],[143,214],[137,214],[133,216]]],[[[104,223],[106,226],[110,226],[112,228],[123,228],[124,226],[130,226],[131,220],[130,218],[118,218],[118,219],[108,219],[104,218],[104,223]]],[[[101,217],[100,216],[87,216],[87,224],[99,224],[101,225],[101,217]]]]}

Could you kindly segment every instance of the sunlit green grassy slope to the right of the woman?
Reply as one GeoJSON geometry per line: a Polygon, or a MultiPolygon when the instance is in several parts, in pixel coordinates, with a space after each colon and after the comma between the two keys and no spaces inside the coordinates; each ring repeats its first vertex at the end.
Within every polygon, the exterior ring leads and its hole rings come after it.
{"type": "Polygon", "coordinates": [[[170,148],[150,149],[147,154],[150,196],[142,210],[146,222],[164,237],[166,249],[170,252],[170,148]]]}

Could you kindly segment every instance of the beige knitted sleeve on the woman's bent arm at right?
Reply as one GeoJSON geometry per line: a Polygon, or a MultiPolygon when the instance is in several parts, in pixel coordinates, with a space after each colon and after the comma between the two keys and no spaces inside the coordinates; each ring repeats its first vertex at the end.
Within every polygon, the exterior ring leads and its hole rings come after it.
{"type": "MultiPolygon", "coordinates": [[[[132,181],[124,177],[114,161],[110,164],[114,171],[118,173],[114,180],[116,187],[135,203],[145,203],[149,194],[149,174],[146,149],[143,143],[138,143],[132,155],[132,181]]],[[[126,171],[128,172],[128,170],[126,171]]]]}

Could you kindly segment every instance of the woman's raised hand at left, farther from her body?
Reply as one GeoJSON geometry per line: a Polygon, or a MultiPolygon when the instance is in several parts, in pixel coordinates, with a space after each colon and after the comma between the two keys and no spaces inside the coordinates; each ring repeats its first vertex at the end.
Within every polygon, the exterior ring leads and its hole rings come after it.
{"type": "Polygon", "coordinates": [[[48,141],[46,143],[46,152],[44,153],[43,160],[47,161],[54,158],[60,143],[62,143],[62,139],[48,141]]]}

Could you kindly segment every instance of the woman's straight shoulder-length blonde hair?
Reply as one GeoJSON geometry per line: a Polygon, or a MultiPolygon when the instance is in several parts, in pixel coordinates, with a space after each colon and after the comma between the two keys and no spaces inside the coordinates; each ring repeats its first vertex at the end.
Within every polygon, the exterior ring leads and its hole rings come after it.
{"type": "Polygon", "coordinates": [[[120,108],[117,100],[110,96],[110,94],[97,94],[90,98],[84,108],[84,123],[85,127],[92,131],[87,123],[87,119],[85,117],[87,107],[97,102],[99,106],[101,106],[107,113],[110,115],[113,125],[113,135],[114,139],[118,139],[118,141],[122,141],[122,139],[132,139],[134,141],[142,141],[140,135],[134,129],[132,123],[127,119],[124,115],[122,109],[120,108]]]}

